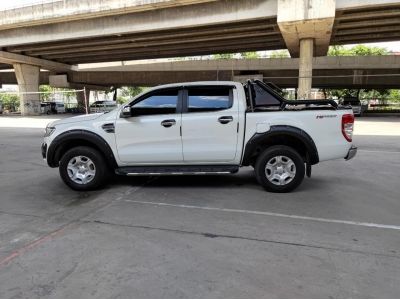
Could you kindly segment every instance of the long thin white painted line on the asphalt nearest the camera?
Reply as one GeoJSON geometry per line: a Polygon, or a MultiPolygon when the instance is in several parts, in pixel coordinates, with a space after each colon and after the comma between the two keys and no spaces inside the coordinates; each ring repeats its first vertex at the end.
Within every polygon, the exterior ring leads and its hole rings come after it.
{"type": "Polygon", "coordinates": [[[368,222],[315,218],[315,217],[307,217],[307,216],[273,213],[273,212],[267,212],[267,211],[218,208],[218,207],[210,207],[210,206],[194,206],[194,205],[170,204],[170,203],[162,203],[162,202],[148,202],[148,201],[135,201],[135,200],[124,200],[124,201],[131,202],[131,203],[137,203],[137,204],[144,204],[144,205],[168,206],[168,207],[187,208],[187,209],[201,209],[201,210],[211,210],[211,211],[221,211],[221,212],[231,212],[231,213],[242,213],[242,214],[281,217],[281,218],[289,218],[289,219],[297,219],[297,220],[308,220],[308,221],[316,221],[316,222],[324,222],[324,223],[336,223],[336,224],[354,225],[354,226],[362,226],[362,227],[400,230],[400,225],[387,225],[387,224],[377,224],[377,223],[368,223],[368,222]]]}

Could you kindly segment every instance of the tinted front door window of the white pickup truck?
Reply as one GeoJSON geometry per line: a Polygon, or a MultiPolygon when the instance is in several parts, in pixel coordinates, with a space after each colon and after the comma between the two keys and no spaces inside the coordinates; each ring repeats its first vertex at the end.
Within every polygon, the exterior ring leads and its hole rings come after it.
{"type": "Polygon", "coordinates": [[[178,90],[164,90],[151,93],[133,105],[134,115],[163,115],[176,113],[178,90]]]}

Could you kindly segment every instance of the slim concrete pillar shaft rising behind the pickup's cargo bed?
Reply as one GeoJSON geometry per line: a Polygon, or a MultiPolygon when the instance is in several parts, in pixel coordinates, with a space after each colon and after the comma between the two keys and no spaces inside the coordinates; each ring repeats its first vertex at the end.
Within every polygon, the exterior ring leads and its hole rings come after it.
{"type": "Polygon", "coordinates": [[[301,39],[298,99],[311,98],[313,56],[314,39],[301,39]]]}

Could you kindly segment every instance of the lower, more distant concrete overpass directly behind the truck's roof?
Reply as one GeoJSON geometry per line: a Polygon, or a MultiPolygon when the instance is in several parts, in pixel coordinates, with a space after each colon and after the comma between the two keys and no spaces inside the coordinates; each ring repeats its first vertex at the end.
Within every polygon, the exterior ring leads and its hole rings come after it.
{"type": "MultiPolygon", "coordinates": [[[[399,55],[315,57],[313,65],[314,88],[400,88],[399,55]]],[[[104,89],[110,86],[264,78],[282,88],[295,88],[298,68],[298,58],[115,62],[81,66],[68,75],[56,75],[56,78],[52,72],[41,72],[40,84],[57,85],[58,80],[60,86],[104,89]]],[[[17,84],[15,73],[12,70],[0,72],[0,82],[17,84]]]]}

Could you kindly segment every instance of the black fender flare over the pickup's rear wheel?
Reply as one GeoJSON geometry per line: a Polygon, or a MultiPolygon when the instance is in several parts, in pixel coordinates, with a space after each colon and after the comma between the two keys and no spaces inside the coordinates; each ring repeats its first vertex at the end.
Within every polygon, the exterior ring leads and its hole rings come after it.
{"type": "Polygon", "coordinates": [[[299,140],[307,151],[306,161],[315,165],[319,162],[318,150],[313,139],[304,130],[289,125],[274,125],[264,133],[255,133],[247,142],[243,154],[242,165],[248,166],[259,145],[273,144],[275,137],[288,136],[299,140]]]}

